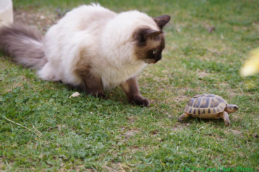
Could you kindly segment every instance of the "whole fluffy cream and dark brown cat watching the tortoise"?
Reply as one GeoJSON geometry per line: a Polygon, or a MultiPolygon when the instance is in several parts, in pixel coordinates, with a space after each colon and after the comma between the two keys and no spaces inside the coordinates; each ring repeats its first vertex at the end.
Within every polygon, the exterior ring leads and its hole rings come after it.
{"type": "Polygon", "coordinates": [[[22,24],[4,26],[0,48],[14,61],[38,68],[43,80],[82,87],[103,98],[103,90],[120,85],[130,103],[147,107],[136,75],[161,60],[162,28],[169,20],[168,15],[153,18],[139,11],[115,13],[92,3],[66,13],[45,36],[22,24]]]}

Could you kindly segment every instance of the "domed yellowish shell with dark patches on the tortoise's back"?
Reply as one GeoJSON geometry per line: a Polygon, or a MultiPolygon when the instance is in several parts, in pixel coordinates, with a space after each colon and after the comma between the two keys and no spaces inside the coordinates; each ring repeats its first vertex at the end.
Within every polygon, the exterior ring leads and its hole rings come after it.
{"type": "Polygon", "coordinates": [[[215,94],[201,94],[192,97],[184,108],[187,114],[217,114],[223,112],[228,103],[215,94]]]}

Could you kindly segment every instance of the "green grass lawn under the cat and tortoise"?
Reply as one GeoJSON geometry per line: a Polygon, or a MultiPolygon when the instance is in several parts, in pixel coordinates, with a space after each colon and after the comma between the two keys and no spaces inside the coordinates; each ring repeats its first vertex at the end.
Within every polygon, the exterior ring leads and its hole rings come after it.
{"type": "MultiPolygon", "coordinates": [[[[44,33],[90,2],[13,0],[14,18],[44,33]]],[[[70,99],[77,90],[0,54],[0,171],[259,171],[259,77],[239,75],[259,47],[258,0],[99,2],[171,16],[162,60],[138,75],[151,106],[128,104],[119,87],[108,100],[85,92],[70,99]],[[178,122],[188,99],[204,92],[240,107],[229,127],[223,119],[178,122]]]]}

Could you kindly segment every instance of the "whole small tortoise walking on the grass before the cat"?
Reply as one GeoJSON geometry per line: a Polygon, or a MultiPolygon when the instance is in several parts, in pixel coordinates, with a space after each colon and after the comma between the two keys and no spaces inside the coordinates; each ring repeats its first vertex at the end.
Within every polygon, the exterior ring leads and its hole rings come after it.
{"type": "Polygon", "coordinates": [[[188,116],[202,119],[223,118],[225,125],[229,126],[229,113],[236,112],[237,105],[228,104],[221,96],[203,93],[192,97],[184,108],[184,113],[178,117],[179,122],[188,116]]]}

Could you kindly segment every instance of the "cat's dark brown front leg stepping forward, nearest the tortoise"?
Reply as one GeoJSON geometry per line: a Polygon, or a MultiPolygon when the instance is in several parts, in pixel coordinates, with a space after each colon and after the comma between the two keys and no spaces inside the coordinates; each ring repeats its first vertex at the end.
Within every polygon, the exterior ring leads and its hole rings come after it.
{"type": "Polygon", "coordinates": [[[120,86],[124,90],[129,102],[134,102],[139,106],[148,107],[150,105],[149,100],[144,99],[141,96],[139,92],[138,81],[135,76],[128,79],[125,83],[121,83],[120,86]]]}

